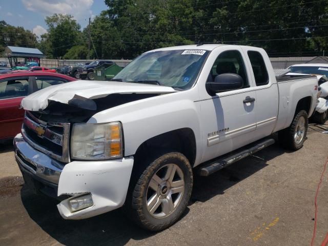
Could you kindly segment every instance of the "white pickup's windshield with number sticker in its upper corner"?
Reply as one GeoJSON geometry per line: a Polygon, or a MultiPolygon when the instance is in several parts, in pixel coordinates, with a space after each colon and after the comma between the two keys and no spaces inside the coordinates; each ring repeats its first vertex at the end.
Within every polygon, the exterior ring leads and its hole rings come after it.
{"type": "Polygon", "coordinates": [[[147,52],[121,70],[113,80],[190,89],[209,51],[168,50],[147,52]]]}

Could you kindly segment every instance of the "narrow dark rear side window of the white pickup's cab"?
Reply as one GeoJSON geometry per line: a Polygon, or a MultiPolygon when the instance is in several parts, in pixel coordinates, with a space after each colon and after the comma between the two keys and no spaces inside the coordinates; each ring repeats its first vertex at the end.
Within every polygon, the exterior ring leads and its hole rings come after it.
{"type": "Polygon", "coordinates": [[[256,86],[268,85],[269,74],[262,55],[257,51],[248,51],[247,53],[251,60],[256,86]]]}

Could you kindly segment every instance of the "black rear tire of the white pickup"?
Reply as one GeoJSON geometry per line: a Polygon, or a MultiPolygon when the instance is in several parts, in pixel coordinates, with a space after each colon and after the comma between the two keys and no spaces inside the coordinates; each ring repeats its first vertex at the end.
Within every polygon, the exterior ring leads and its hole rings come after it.
{"type": "Polygon", "coordinates": [[[308,113],[306,113],[305,110],[299,111],[294,116],[290,127],[279,131],[278,138],[280,145],[289,150],[299,150],[300,148],[302,148],[306,139],[306,134],[308,133],[308,124],[308,113]],[[302,131],[300,131],[301,128],[299,127],[299,122],[302,120],[304,120],[303,134],[301,134],[302,131]],[[300,132],[300,134],[297,136],[302,135],[302,137],[297,138],[295,135],[297,134],[297,132],[300,132]]]}

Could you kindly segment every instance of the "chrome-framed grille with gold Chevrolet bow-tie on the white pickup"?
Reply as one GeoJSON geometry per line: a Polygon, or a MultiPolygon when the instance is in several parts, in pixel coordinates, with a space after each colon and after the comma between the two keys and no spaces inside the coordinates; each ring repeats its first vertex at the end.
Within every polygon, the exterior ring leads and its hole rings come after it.
{"type": "Polygon", "coordinates": [[[45,122],[26,112],[22,135],[35,149],[61,162],[69,162],[69,123],[45,122]]]}

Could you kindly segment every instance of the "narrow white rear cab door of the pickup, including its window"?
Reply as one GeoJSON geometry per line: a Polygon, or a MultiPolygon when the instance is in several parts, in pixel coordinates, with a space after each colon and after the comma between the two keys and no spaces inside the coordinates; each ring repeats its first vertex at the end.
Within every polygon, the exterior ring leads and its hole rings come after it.
{"type": "Polygon", "coordinates": [[[278,86],[271,62],[263,49],[243,47],[247,56],[256,93],[256,135],[269,136],[275,127],[278,115],[278,86]]]}

